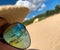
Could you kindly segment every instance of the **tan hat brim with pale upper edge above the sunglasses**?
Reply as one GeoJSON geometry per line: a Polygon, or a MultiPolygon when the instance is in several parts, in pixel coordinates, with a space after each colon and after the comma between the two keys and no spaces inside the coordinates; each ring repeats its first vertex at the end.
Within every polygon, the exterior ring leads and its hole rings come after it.
{"type": "Polygon", "coordinates": [[[23,6],[0,6],[0,17],[4,17],[9,23],[22,22],[29,13],[29,9],[23,6]]]}

